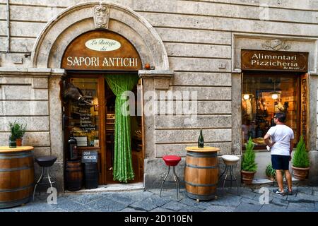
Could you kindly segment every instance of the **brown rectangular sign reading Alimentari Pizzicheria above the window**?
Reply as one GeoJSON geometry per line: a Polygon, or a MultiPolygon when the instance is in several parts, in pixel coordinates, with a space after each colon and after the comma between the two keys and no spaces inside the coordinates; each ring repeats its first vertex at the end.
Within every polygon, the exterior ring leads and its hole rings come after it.
{"type": "Polygon", "coordinates": [[[242,70],[308,71],[307,52],[281,52],[242,49],[242,70]]]}

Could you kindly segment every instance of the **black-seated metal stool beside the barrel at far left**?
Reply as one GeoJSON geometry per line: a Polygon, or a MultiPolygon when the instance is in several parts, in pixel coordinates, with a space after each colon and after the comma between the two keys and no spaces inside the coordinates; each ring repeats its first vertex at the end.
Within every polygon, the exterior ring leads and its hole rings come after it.
{"type": "Polygon", "coordinates": [[[37,180],[37,182],[35,183],[35,186],[34,186],[33,201],[34,201],[34,197],[35,197],[35,191],[36,191],[38,185],[49,185],[53,189],[52,184],[57,183],[57,181],[49,175],[49,167],[52,167],[52,165],[54,164],[54,162],[56,160],[57,160],[57,157],[52,156],[52,155],[44,155],[44,156],[40,156],[40,157],[35,158],[35,162],[37,162],[37,164],[41,167],[41,176],[37,180]],[[47,179],[47,182],[43,182],[44,179],[47,179]]]}

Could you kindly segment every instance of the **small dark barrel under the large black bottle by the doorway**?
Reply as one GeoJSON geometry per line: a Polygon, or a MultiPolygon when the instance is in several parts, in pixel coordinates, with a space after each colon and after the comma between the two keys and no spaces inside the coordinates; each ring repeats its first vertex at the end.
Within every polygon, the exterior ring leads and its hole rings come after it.
{"type": "Polygon", "coordinates": [[[66,162],[65,186],[69,191],[78,191],[82,188],[83,172],[81,160],[71,160],[66,162]]]}

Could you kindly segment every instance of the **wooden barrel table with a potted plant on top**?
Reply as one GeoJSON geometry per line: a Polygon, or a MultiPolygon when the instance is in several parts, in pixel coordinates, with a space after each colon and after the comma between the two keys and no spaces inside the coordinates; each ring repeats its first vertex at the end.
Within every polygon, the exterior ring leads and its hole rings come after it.
{"type": "Polygon", "coordinates": [[[34,186],[33,147],[0,147],[0,208],[30,201],[34,186]]]}

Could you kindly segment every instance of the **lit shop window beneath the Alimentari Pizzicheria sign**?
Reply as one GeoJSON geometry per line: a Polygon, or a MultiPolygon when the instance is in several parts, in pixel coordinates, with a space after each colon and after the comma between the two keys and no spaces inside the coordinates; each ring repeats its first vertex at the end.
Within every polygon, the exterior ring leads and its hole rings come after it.
{"type": "Polygon", "coordinates": [[[273,116],[286,114],[285,124],[300,137],[300,75],[244,73],[242,78],[242,145],[251,137],[255,149],[266,149],[264,136],[275,126],[273,116]]]}

